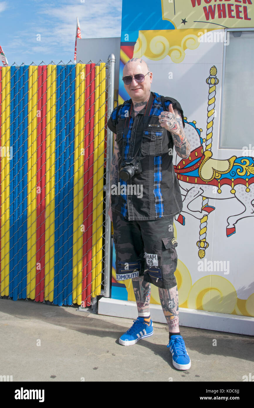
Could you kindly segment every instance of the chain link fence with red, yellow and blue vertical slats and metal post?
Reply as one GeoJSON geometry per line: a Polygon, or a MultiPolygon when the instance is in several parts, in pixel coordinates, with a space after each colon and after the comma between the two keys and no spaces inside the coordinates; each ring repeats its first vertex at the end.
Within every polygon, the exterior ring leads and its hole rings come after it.
{"type": "Polygon", "coordinates": [[[110,295],[110,57],[0,69],[2,298],[86,308],[110,295]]]}

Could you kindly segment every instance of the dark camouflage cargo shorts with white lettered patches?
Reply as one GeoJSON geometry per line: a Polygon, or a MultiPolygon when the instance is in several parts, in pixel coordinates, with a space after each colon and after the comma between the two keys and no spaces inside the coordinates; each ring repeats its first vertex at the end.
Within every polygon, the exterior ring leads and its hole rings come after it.
{"type": "Polygon", "coordinates": [[[177,241],[173,218],[128,221],[113,213],[116,279],[144,275],[144,282],[158,288],[176,286],[177,241]]]}

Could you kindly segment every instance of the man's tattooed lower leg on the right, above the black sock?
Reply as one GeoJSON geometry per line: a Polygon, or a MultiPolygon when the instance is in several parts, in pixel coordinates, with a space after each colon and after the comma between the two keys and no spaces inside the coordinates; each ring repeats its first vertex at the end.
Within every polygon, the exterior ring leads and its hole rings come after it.
{"type": "Polygon", "coordinates": [[[168,323],[171,333],[179,332],[179,309],[178,309],[178,289],[174,286],[170,289],[159,288],[159,297],[163,313],[168,323]]]}

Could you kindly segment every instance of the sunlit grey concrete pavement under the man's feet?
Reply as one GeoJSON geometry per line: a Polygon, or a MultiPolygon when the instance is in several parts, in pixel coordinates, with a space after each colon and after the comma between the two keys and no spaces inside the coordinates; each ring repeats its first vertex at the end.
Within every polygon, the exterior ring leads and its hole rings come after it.
{"type": "Polygon", "coordinates": [[[13,381],[153,382],[243,382],[254,375],[252,336],[180,326],[192,366],[179,371],[166,347],[166,323],[154,323],[151,337],[121,346],[131,319],[76,309],[0,299],[0,375],[13,381]]]}

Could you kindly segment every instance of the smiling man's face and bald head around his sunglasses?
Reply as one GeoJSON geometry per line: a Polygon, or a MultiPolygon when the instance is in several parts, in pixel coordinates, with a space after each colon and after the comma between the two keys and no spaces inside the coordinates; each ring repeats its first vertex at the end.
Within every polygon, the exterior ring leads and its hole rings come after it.
{"type": "Polygon", "coordinates": [[[135,102],[141,102],[148,99],[152,82],[152,73],[150,72],[146,75],[147,73],[148,69],[144,62],[139,63],[131,61],[124,66],[123,76],[133,76],[132,82],[129,85],[124,84],[124,88],[128,92],[128,95],[130,95],[130,98],[135,102]],[[144,81],[137,82],[134,78],[134,75],[136,74],[146,75],[144,81]]]}

